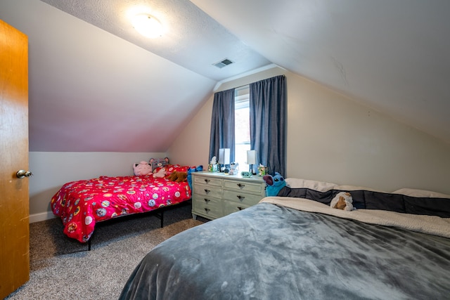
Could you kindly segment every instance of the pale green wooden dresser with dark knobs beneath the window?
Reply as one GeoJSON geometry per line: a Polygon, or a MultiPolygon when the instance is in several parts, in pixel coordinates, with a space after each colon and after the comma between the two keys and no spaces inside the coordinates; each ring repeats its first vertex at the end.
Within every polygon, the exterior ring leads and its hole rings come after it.
{"type": "Polygon", "coordinates": [[[192,185],[193,219],[217,219],[255,205],[266,196],[266,183],[259,176],[193,172],[192,185]]]}

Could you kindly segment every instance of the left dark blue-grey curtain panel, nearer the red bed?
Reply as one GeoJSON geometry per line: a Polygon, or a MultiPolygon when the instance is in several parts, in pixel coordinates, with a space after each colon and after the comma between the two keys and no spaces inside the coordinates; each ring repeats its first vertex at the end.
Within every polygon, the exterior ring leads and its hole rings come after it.
{"type": "Polygon", "coordinates": [[[234,162],[234,89],[214,93],[208,162],[213,156],[219,159],[220,148],[230,148],[230,162],[234,162]]]}

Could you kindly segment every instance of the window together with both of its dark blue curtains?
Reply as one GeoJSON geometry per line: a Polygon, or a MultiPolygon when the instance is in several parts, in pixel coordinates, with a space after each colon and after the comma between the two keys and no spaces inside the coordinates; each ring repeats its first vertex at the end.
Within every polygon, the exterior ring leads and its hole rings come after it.
{"type": "Polygon", "coordinates": [[[286,110],[284,75],[214,93],[210,157],[217,157],[219,149],[226,145],[231,148],[233,160],[241,164],[240,169],[245,169],[246,150],[251,144],[257,151],[257,164],[264,164],[270,174],[278,171],[285,176],[286,110]]]}

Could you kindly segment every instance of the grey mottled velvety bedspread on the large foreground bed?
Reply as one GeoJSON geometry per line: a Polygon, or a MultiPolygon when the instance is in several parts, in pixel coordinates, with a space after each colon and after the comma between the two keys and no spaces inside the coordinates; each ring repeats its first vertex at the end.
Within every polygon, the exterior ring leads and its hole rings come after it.
{"type": "Polygon", "coordinates": [[[260,203],[159,244],[120,299],[450,299],[450,239],[260,203]]]}

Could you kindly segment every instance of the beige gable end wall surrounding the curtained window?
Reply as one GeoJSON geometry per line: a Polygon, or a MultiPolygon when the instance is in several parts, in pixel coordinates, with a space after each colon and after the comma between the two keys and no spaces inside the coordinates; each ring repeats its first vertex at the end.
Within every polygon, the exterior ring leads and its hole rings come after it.
{"type": "MultiPolygon", "coordinates": [[[[287,177],[450,194],[450,145],[354,99],[279,68],[226,82],[218,90],[278,74],[285,74],[288,84],[287,177]]],[[[208,163],[212,100],[169,148],[172,159],[208,163]]]]}

